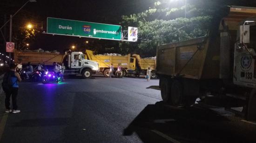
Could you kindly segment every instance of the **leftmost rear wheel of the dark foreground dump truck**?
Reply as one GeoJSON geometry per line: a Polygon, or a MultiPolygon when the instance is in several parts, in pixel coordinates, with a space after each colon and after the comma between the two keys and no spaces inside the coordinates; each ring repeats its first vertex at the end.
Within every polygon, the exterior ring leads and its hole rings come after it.
{"type": "Polygon", "coordinates": [[[171,97],[171,81],[168,81],[168,78],[161,78],[160,84],[162,100],[168,103],[171,97]]]}

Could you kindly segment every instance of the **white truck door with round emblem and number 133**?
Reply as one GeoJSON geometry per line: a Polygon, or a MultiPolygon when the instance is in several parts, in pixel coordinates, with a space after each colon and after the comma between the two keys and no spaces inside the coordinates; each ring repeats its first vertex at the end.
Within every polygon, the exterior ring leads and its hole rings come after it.
{"type": "MultiPolygon", "coordinates": [[[[240,29],[242,28],[243,26],[241,26],[240,29]]],[[[247,31],[247,33],[241,36],[243,37],[244,45],[236,44],[233,81],[238,85],[256,87],[256,42],[254,40],[256,38],[256,26],[248,25],[247,28],[244,29],[247,31]],[[246,38],[246,34],[249,34],[248,38],[246,38]],[[248,48],[249,52],[244,46],[248,48]]],[[[240,33],[243,33],[241,31],[243,30],[240,30],[240,33]]]]}

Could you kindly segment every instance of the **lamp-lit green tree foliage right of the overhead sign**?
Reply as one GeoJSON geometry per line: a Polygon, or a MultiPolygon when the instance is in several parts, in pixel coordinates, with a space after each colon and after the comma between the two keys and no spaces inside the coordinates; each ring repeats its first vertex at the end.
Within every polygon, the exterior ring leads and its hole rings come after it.
{"type": "Polygon", "coordinates": [[[125,52],[136,52],[144,56],[155,56],[157,45],[192,39],[208,34],[213,10],[187,4],[187,18],[184,18],[185,5],[170,6],[169,0],[155,1],[141,13],[122,16],[121,25],[138,27],[136,43],[121,42],[125,52]]]}

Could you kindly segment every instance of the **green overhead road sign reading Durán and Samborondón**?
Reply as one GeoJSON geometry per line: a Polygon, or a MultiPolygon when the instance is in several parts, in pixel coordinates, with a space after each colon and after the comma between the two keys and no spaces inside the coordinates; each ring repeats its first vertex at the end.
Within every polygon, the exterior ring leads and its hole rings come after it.
{"type": "Polygon", "coordinates": [[[47,33],[121,40],[121,26],[50,17],[47,18],[47,33]]]}

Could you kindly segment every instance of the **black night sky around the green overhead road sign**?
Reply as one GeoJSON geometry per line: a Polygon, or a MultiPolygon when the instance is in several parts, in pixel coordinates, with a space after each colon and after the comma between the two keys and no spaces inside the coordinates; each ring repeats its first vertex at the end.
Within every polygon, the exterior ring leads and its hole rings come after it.
{"type": "MultiPolygon", "coordinates": [[[[27,0],[1,0],[0,2],[0,25],[3,24],[4,15],[13,14],[27,0]]],[[[37,0],[34,3],[28,3],[14,18],[13,30],[27,23],[33,23],[40,31],[46,31],[47,17],[55,17],[70,20],[81,20],[89,22],[98,22],[106,24],[119,25],[121,15],[128,15],[141,12],[152,6],[154,0],[37,0]],[[43,29],[41,29],[43,26],[43,29]]],[[[188,0],[193,1],[193,0],[188,0]]],[[[195,1],[195,0],[194,0],[195,1]]],[[[204,4],[207,4],[205,0],[204,4]]],[[[210,0],[211,1],[211,0],[210,0]]],[[[226,1],[226,0],[216,0],[226,1]]],[[[233,0],[248,3],[249,0],[233,0]]],[[[253,2],[254,0],[251,0],[253,2]]],[[[223,2],[224,4],[225,2],[223,2]]],[[[6,39],[8,39],[9,24],[6,26],[6,39]]],[[[4,32],[4,29],[3,29],[4,32]]],[[[98,39],[78,38],[70,36],[58,36],[39,33],[34,43],[31,43],[30,49],[42,48],[45,50],[58,50],[63,52],[64,49],[70,48],[71,45],[80,44],[89,40],[99,42],[98,39]]],[[[101,39],[102,40],[102,39],[101,39]]],[[[2,37],[0,42],[3,46],[2,37]]],[[[112,41],[109,41],[110,43],[112,41]]],[[[113,45],[117,42],[113,41],[113,45]]],[[[111,44],[109,46],[112,46],[111,44]]],[[[1,48],[3,52],[5,47],[1,48]]]]}

